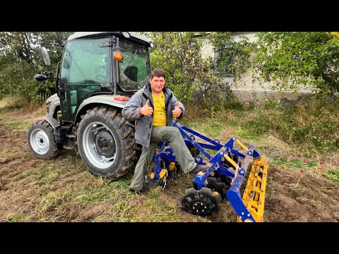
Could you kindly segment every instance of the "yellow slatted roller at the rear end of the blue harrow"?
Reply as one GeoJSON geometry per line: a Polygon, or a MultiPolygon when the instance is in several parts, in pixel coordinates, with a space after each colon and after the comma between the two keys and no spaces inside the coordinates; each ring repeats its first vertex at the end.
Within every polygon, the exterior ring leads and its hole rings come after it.
{"type": "MultiPolygon", "coordinates": [[[[256,222],[263,222],[268,162],[265,159],[254,159],[249,173],[242,201],[256,222]]],[[[237,218],[238,222],[242,219],[237,218]]]]}

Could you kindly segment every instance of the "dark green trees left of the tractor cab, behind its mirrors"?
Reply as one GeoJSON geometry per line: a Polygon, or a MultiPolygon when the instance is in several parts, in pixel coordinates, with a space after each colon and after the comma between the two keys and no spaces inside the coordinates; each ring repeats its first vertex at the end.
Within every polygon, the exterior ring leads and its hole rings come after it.
{"type": "MultiPolygon", "coordinates": [[[[41,102],[41,95],[53,89],[54,83],[38,83],[36,73],[46,66],[37,52],[40,42],[63,44],[71,32],[0,32],[0,99],[5,95],[20,95],[27,102],[41,102]]],[[[50,52],[55,69],[61,51],[50,52]]],[[[51,71],[49,69],[48,71],[51,71]]]]}

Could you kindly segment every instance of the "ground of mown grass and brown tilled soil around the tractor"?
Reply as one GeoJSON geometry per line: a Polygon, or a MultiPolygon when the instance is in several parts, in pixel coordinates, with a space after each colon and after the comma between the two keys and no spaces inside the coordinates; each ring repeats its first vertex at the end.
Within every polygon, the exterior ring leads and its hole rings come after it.
{"type": "MultiPolygon", "coordinates": [[[[207,217],[184,212],[178,197],[193,176],[169,186],[129,193],[133,172],[117,181],[93,176],[75,150],[61,150],[52,160],[36,159],[28,148],[31,123],[45,114],[0,103],[1,222],[236,222],[227,200],[207,217]]],[[[188,118],[183,123],[225,143],[236,135],[252,143],[268,160],[264,222],[339,222],[338,151],[311,154],[276,135],[250,135],[241,126],[215,119],[188,118]]],[[[307,147],[305,147],[307,150],[307,147]]]]}

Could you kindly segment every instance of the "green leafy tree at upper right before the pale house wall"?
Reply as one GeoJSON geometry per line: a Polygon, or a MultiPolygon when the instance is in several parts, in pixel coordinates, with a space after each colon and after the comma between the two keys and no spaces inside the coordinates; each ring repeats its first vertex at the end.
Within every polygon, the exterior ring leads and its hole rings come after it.
{"type": "MultiPolygon", "coordinates": [[[[250,67],[258,80],[299,85],[321,95],[339,92],[339,40],[331,32],[258,32],[250,67]]],[[[273,87],[274,88],[274,87],[273,87]]]]}

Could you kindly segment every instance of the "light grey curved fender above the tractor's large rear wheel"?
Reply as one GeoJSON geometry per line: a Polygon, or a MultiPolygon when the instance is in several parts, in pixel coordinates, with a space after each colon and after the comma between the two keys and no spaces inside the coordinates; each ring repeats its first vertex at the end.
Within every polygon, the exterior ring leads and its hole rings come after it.
{"type": "Polygon", "coordinates": [[[115,100],[115,98],[119,98],[119,97],[125,97],[125,96],[121,96],[121,95],[95,95],[92,97],[88,97],[87,99],[84,99],[83,102],[81,102],[81,104],[78,106],[78,109],[76,109],[76,114],[74,114],[73,116],[73,120],[78,119],[78,114],[79,112],[83,111],[82,109],[88,109],[88,105],[90,104],[95,104],[95,106],[97,106],[97,104],[102,104],[102,105],[108,105],[111,107],[114,107],[116,109],[122,109],[127,101],[119,101],[119,100],[115,100]]]}

